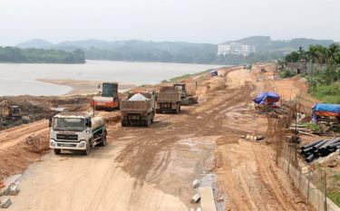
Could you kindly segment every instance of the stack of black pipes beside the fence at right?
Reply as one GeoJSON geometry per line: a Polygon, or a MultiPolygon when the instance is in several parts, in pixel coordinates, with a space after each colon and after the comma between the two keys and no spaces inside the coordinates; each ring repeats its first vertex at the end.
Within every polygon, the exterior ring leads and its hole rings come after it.
{"type": "Polygon", "coordinates": [[[301,147],[301,155],[309,163],[316,158],[328,156],[336,149],[340,149],[340,138],[321,139],[301,147]]]}

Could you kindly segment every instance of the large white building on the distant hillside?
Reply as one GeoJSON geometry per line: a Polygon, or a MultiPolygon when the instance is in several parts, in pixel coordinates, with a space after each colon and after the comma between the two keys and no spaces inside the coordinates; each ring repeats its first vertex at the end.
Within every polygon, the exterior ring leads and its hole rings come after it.
{"type": "Polygon", "coordinates": [[[247,56],[250,53],[255,53],[255,46],[244,43],[227,43],[219,44],[218,55],[237,54],[247,56]]]}

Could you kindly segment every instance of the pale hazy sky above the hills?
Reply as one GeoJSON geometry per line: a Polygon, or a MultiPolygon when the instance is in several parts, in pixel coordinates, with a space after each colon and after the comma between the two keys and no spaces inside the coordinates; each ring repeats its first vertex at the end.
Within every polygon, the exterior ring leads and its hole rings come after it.
{"type": "Polygon", "coordinates": [[[1,0],[0,45],[33,38],[222,43],[249,35],[340,41],[340,0],[1,0]]]}

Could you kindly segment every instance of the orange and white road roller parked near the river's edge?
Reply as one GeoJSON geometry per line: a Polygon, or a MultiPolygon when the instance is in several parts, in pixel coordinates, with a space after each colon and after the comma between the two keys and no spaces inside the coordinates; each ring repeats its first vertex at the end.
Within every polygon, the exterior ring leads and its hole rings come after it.
{"type": "Polygon", "coordinates": [[[91,101],[93,110],[117,110],[120,108],[120,99],[118,94],[118,83],[102,83],[101,96],[94,96],[91,101]]]}

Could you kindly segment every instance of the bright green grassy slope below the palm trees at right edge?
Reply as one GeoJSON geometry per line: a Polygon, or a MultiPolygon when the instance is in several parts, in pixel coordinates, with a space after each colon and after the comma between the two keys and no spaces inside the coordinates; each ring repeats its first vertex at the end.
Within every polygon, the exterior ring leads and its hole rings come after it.
{"type": "Polygon", "coordinates": [[[311,94],[325,103],[340,103],[340,82],[318,85],[312,89],[311,94]]]}

